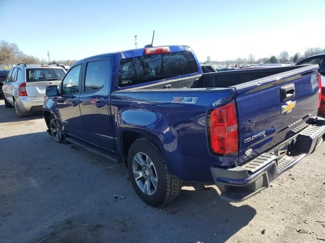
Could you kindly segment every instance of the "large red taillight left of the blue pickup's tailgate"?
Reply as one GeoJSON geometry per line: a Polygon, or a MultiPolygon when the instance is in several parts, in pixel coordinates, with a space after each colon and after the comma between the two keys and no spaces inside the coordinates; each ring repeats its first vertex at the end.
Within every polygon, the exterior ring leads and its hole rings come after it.
{"type": "Polygon", "coordinates": [[[210,112],[208,130],[212,152],[219,155],[238,153],[238,121],[235,102],[210,112]]]}

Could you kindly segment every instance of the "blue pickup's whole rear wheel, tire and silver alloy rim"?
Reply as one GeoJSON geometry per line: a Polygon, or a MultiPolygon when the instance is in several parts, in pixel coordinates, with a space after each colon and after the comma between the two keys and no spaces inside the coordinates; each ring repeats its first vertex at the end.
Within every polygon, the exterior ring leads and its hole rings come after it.
{"type": "Polygon", "coordinates": [[[148,138],[136,140],[128,151],[128,174],[138,196],[151,206],[171,203],[182,181],[172,178],[158,146],[148,138]]]}

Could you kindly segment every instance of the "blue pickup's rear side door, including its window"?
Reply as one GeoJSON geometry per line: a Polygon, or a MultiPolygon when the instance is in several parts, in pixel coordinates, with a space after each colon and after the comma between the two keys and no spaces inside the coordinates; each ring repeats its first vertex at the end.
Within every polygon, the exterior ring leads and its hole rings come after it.
{"type": "Polygon", "coordinates": [[[85,61],[79,103],[89,141],[114,151],[114,133],[109,109],[111,63],[111,56],[85,61]]]}

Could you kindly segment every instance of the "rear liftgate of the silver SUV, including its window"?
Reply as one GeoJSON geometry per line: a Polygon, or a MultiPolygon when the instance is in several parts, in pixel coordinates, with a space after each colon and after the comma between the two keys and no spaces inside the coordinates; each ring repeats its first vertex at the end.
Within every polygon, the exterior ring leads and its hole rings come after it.
{"type": "Polygon", "coordinates": [[[26,69],[26,92],[30,100],[40,100],[45,96],[47,86],[59,87],[66,74],[61,68],[28,68],[26,69]]]}

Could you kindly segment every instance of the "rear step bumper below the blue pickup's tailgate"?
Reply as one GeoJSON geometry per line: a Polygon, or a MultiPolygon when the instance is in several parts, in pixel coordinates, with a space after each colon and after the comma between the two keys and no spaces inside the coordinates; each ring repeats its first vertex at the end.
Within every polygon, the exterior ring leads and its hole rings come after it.
{"type": "Polygon", "coordinates": [[[259,155],[244,165],[232,168],[211,168],[215,184],[221,191],[221,197],[229,201],[245,200],[269,187],[270,182],[284,171],[292,168],[323,141],[325,119],[317,118],[317,123],[304,129],[276,148],[259,155]],[[290,144],[287,155],[278,158],[274,151],[290,144]]]}

